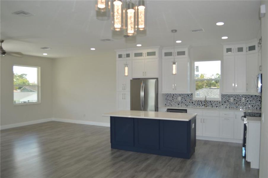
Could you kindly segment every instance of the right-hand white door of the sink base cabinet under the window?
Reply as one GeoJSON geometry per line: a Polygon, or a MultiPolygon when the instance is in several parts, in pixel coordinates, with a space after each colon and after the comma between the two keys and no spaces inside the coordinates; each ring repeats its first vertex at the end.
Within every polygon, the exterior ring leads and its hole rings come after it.
{"type": "Polygon", "coordinates": [[[203,116],[203,136],[219,136],[219,117],[203,116]]]}

